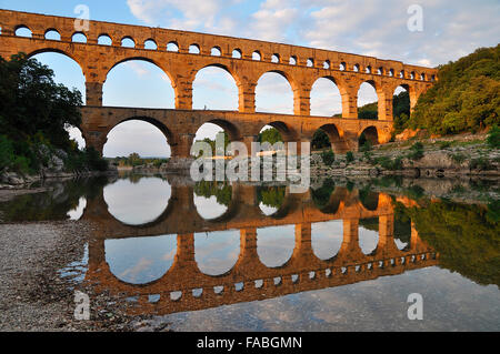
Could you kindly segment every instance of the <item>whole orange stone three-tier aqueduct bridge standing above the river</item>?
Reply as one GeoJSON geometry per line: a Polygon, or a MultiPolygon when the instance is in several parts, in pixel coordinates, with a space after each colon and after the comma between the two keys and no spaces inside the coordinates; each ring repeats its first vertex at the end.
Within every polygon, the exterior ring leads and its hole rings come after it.
{"type": "Polygon", "coordinates": [[[120,122],[140,119],[153,123],[167,135],[172,158],[189,156],[197,130],[207,122],[223,128],[231,140],[248,146],[266,124],[277,128],[286,141],[310,141],[323,128],[337,152],[357,150],[363,131],[372,142],[384,143],[392,129],[392,97],[398,87],[409,91],[411,108],[421,93],[437,80],[437,70],[336,51],[288,45],[223,36],[90,21],[89,30],[78,32],[74,19],[0,10],[0,55],[18,52],[34,55],[58,52],[80,64],[86,77],[87,105],[80,127],[88,145],[102,152],[107,134],[120,122]],[[31,38],[17,37],[20,28],[31,30],[31,38]],[[46,34],[57,31],[60,40],[46,34]],[[86,36],[87,42],[73,42],[73,34],[86,36]],[[111,45],[99,44],[107,36],[111,45]],[[131,39],[134,48],[122,47],[131,39]],[[156,50],[144,48],[152,41],[156,50]],[[168,51],[174,43],[177,51],[168,51]],[[191,53],[196,47],[199,53],[191,53]],[[220,55],[212,55],[217,49],[220,55]],[[233,58],[233,53],[239,53],[233,58]],[[253,60],[253,53],[259,60],[253,60]],[[102,107],[102,87],[109,71],[128,60],[146,60],[161,68],[170,78],[176,95],[174,110],[146,110],[102,107]],[[192,83],[197,72],[207,67],[224,69],[239,91],[239,109],[229,111],[193,111],[192,83]],[[284,77],[293,91],[293,114],[256,113],[256,87],[267,72],[284,77]],[[320,78],[333,81],[342,98],[342,118],[310,117],[310,92],[320,78]],[[378,94],[379,120],[358,119],[358,90],[363,82],[378,94]]]}

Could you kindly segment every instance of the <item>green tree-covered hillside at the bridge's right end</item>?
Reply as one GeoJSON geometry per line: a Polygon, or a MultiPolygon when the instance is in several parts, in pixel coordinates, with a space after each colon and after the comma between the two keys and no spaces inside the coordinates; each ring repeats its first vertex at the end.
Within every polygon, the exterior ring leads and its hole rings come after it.
{"type": "Polygon", "coordinates": [[[500,123],[500,44],[439,67],[439,81],[417,103],[403,128],[452,134],[500,123]]]}

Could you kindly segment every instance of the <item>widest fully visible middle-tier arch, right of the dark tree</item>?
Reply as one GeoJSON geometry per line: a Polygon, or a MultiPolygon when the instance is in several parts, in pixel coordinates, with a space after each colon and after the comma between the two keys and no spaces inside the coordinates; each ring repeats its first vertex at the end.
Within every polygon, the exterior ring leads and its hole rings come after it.
{"type": "Polygon", "coordinates": [[[102,87],[102,104],[109,107],[173,109],[176,95],[171,74],[142,57],[114,63],[102,87]]]}

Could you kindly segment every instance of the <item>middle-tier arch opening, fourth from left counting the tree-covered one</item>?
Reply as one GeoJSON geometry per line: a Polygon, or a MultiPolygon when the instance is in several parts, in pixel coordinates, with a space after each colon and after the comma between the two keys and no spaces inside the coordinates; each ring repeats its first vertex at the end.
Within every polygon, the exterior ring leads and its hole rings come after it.
{"type": "Polygon", "coordinates": [[[257,112],[293,114],[293,83],[282,71],[268,71],[257,81],[257,112]]]}

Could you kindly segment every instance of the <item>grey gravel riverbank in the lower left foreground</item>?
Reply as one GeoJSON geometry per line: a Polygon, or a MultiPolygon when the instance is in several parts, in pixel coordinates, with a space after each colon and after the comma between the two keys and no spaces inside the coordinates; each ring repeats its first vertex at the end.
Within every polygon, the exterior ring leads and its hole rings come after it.
{"type": "MultiPolygon", "coordinates": [[[[0,224],[0,331],[138,331],[141,316],[126,315],[104,295],[92,296],[91,318],[74,318],[74,291],[86,264],[88,222],[0,224]],[[110,310],[112,307],[112,310],[110,310]],[[106,309],[106,310],[97,310],[106,309]]],[[[87,293],[87,292],[86,292],[87,293]]]]}

